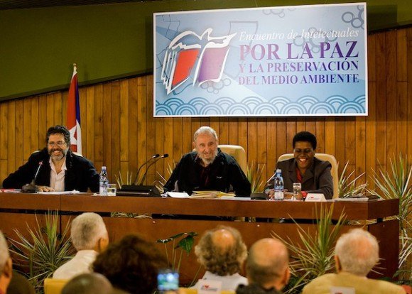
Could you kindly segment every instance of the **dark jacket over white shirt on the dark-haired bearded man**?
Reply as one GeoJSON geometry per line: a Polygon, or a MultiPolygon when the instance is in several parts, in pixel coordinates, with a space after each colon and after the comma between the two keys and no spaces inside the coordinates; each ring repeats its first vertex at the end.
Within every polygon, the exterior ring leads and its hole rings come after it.
{"type": "MultiPolygon", "coordinates": [[[[38,163],[43,160],[43,165],[38,172],[36,185],[50,186],[50,156],[47,148],[39,152],[33,153],[28,162],[21,165],[16,172],[11,173],[4,181],[4,188],[20,189],[23,185],[31,183],[38,163]]],[[[66,173],[65,173],[65,190],[78,190],[80,192],[87,192],[90,188],[92,192],[99,191],[99,174],[94,168],[90,160],[82,156],[77,156],[72,151],[67,152],[66,156],[66,173]]]]}

